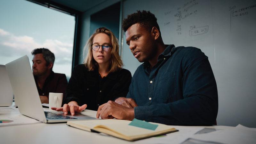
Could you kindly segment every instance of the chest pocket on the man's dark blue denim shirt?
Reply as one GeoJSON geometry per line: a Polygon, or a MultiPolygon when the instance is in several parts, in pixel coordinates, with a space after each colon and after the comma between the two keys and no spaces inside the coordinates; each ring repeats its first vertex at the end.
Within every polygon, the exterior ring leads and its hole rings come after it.
{"type": "Polygon", "coordinates": [[[172,102],[176,94],[176,72],[166,72],[160,75],[157,84],[157,101],[159,103],[172,102]]]}

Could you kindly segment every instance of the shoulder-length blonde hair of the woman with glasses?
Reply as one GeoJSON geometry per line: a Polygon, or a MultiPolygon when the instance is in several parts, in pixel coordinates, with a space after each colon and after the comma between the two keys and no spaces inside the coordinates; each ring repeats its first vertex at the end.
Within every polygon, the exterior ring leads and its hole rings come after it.
{"type": "Polygon", "coordinates": [[[99,33],[104,33],[107,34],[111,40],[112,43],[112,48],[110,49],[111,51],[111,58],[110,58],[110,64],[108,68],[108,72],[115,72],[119,69],[122,69],[123,67],[123,62],[121,60],[121,57],[119,56],[119,45],[118,45],[118,40],[116,36],[107,28],[98,28],[94,34],[89,38],[87,41],[86,45],[84,46],[84,54],[87,50],[87,55],[84,59],[84,64],[85,66],[90,70],[94,70],[95,68],[98,68],[99,65],[98,63],[94,60],[92,56],[92,42],[94,36],[96,36],[99,33]]]}

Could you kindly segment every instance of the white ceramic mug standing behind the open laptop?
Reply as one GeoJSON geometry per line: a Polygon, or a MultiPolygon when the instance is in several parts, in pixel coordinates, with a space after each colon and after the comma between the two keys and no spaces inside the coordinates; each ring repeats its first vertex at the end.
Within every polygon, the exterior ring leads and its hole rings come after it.
{"type": "Polygon", "coordinates": [[[62,104],[63,93],[53,93],[49,92],[49,110],[52,107],[60,108],[62,104]]]}

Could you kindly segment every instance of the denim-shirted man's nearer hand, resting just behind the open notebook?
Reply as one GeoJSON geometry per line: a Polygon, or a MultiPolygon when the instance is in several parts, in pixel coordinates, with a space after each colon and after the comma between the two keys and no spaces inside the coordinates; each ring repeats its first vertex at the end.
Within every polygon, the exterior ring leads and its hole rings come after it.
{"type": "Polygon", "coordinates": [[[124,107],[114,101],[109,100],[107,103],[99,106],[96,117],[101,117],[102,119],[116,118],[133,120],[134,108],[124,107]]]}

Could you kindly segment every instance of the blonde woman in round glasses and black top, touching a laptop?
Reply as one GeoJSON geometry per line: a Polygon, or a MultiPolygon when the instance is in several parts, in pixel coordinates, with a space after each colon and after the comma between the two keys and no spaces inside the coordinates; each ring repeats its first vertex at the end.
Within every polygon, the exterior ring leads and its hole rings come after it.
{"type": "Polygon", "coordinates": [[[98,28],[87,41],[84,53],[86,50],[84,64],[72,71],[63,107],[53,110],[74,115],[85,108],[98,110],[108,100],[126,96],[132,75],[122,68],[116,36],[107,28],[98,28]]]}

